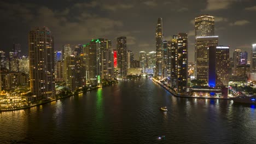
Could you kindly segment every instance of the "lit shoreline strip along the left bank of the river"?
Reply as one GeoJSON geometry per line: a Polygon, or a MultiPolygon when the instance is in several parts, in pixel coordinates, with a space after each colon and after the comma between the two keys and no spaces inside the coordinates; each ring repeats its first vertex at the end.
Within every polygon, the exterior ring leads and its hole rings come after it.
{"type": "MultiPolygon", "coordinates": [[[[116,82],[116,83],[118,83],[118,82],[116,82]]],[[[112,83],[111,85],[107,85],[107,86],[112,86],[112,85],[114,85],[114,84],[115,84],[115,83],[112,83]]],[[[102,86],[102,87],[107,87],[107,86],[102,86]]],[[[99,89],[99,88],[102,88],[102,87],[92,88],[92,89],[87,90],[86,92],[89,92],[89,91],[92,91],[92,90],[95,90],[95,89],[99,89]]],[[[60,98],[55,98],[55,99],[50,99],[50,100],[42,101],[41,103],[33,104],[33,105],[29,105],[29,106],[16,107],[16,108],[9,108],[9,109],[0,109],[0,113],[1,113],[1,112],[5,112],[5,111],[24,110],[24,109],[28,109],[28,108],[30,108],[30,107],[35,107],[35,106],[39,106],[39,105],[44,105],[44,104],[50,103],[50,102],[52,102],[52,101],[56,101],[56,100],[60,100],[60,99],[65,99],[65,98],[68,98],[68,97],[72,97],[72,96],[77,95],[77,94],[80,94],[80,93],[84,93],[84,92],[81,91],[81,92],[79,92],[79,93],[67,95],[67,96],[65,96],[65,97],[60,97],[60,98]]]]}

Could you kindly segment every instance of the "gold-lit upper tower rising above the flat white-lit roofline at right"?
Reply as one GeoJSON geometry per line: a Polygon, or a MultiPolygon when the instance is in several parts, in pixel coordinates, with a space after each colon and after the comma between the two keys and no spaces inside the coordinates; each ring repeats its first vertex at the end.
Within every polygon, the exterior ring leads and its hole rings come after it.
{"type": "Polygon", "coordinates": [[[214,35],[214,16],[201,15],[195,17],[195,37],[214,35]]]}

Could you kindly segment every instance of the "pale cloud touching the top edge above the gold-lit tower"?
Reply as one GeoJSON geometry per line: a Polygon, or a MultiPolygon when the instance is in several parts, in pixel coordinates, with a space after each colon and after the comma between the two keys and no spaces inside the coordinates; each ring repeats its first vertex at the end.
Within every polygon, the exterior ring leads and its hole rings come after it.
{"type": "Polygon", "coordinates": [[[228,9],[230,5],[237,0],[207,0],[206,9],[207,11],[228,9]]]}

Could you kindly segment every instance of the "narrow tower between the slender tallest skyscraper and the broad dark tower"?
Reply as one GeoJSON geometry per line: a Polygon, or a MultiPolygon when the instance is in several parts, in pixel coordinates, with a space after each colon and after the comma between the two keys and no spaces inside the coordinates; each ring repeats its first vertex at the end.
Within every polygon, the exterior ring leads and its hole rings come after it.
{"type": "Polygon", "coordinates": [[[168,44],[167,40],[162,41],[162,77],[167,77],[167,65],[168,65],[168,44]]]}

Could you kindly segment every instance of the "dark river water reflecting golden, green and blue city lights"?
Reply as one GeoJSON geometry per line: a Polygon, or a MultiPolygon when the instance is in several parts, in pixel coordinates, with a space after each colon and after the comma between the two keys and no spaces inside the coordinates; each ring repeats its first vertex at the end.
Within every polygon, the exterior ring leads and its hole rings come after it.
{"type": "Polygon", "coordinates": [[[256,109],[173,97],[144,78],[2,112],[0,143],[256,143],[256,109]]]}

